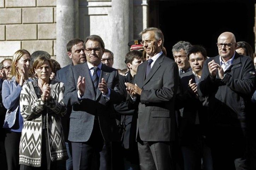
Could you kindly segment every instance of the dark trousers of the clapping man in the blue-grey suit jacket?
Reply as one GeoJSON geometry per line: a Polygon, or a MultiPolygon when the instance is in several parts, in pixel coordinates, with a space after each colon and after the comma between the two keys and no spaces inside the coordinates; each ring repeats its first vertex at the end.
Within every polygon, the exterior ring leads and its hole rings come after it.
{"type": "Polygon", "coordinates": [[[87,142],[72,142],[72,159],[74,170],[111,169],[111,145],[104,141],[98,120],[87,142]]]}

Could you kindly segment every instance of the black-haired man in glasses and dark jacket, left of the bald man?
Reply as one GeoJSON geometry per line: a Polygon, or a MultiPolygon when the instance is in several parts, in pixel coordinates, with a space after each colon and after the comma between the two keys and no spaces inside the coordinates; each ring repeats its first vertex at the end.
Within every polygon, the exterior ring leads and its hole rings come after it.
{"type": "Polygon", "coordinates": [[[192,70],[181,75],[183,94],[177,101],[183,107],[179,138],[184,170],[201,169],[201,158],[204,169],[212,170],[211,152],[206,145],[208,110],[203,105],[205,98],[197,94],[197,84],[207,59],[206,50],[202,46],[194,45],[187,51],[187,57],[192,70]]]}

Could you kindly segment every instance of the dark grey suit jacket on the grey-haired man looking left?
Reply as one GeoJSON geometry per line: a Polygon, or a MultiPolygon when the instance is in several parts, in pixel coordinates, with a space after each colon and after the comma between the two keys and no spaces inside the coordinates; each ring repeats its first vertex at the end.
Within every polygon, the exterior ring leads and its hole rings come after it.
{"type": "Polygon", "coordinates": [[[178,89],[177,64],[164,54],[158,57],[145,79],[147,61],[138,67],[134,84],[141,89],[137,137],[142,141],[175,140],[174,98],[178,89]]]}

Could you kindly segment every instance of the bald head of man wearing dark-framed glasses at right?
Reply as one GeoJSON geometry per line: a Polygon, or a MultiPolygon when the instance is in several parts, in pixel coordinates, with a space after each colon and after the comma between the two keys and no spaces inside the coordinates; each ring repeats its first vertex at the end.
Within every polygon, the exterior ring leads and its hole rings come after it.
{"type": "Polygon", "coordinates": [[[228,61],[235,54],[237,43],[235,43],[235,35],[232,32],[223,32],[218,38],[219,55],[223,61],[228,61]]]}

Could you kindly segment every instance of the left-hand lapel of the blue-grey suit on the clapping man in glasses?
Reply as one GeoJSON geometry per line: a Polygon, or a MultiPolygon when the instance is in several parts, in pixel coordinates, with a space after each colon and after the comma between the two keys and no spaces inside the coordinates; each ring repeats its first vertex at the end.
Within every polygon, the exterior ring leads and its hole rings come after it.
{"type": "Polygon", "coordinates": [[[92,93],[93,98],[95,98],[94,85],[92,83],[91,73],[87,62],[83,64],[83,69],[79,69],[81,77],[85,77],[85,86],[86,90],[89,90],[92,93]]]}

